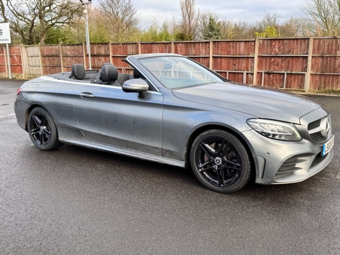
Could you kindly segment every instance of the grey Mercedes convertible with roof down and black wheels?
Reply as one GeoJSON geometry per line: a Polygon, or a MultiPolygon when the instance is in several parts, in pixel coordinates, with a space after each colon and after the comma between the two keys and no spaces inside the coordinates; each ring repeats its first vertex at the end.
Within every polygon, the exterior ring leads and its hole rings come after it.
{"type": "Polygon", "coordinates": [[[333,156],[328,110],[306,97],[234,84],[178,54],[124,59],[26,81],[18,124],[41,150],[62,143],[191,167],[205,187],[302,181],[333,156]],[[132,71],[131,71],[132,72],[132,71]]]}

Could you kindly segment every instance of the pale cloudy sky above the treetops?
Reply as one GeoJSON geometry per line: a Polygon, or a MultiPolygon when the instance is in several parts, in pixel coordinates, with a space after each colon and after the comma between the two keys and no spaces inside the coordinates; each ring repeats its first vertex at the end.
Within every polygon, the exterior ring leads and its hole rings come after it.
{"type": "MultiPolygon", "coordinates": [[[[264,11],[279,15],[279,21],[290,17],[300,17],[300,7],[306,0],[195,0],[196,9],[210,11],[219,19],[248,21],[250,23],[262,19],[264,11]]],[[[92,0],[96,4],[98,0],[92,0]]],[[[160,26],[164,21],[173,18],[180,21],[179,0],[131,0],[137,10],[139,27],[147,29],[153,19],[160,26]]]]}

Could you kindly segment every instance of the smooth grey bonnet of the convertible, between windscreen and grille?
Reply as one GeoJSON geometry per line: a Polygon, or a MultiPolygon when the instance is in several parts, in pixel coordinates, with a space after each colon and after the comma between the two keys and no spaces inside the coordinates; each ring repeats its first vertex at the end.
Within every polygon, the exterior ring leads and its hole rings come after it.
{"type": "Polygon", "coordinates": [[[172,93],[183,100],[292,123],[299,123],[301,116],[320,107],[307,97],[293,93],[228,82],[181,88],[172,93]]]}

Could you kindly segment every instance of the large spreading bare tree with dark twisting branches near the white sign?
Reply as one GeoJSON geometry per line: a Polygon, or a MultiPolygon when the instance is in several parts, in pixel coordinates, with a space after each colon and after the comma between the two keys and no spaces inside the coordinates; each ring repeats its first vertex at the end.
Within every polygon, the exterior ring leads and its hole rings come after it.
{"type": "Polygon", "coordinates": [[[2,19],[22,42],[44,43],[48,30],[71,24],[80,15],[80,2],[72,0],[0,0],[2,19]]]}

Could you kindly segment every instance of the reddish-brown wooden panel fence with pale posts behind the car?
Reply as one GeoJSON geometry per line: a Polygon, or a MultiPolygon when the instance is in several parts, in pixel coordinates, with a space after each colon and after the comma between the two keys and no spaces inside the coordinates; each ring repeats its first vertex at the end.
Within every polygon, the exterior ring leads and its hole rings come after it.
{"type": "MultiPolygon", "coordinates": [[[[140,53],[179,53],[237,82],[291,90],[340,90],[340,37],[256,38],[250,40],[96,43],[90,45],[92,68],[140,53]]],[[[11,73],[17,78],[88,67],[84,44],[12,45],[11,73]]],[[[0,77],[8,77],[5,46],[0,46],[0,77]]]]}

